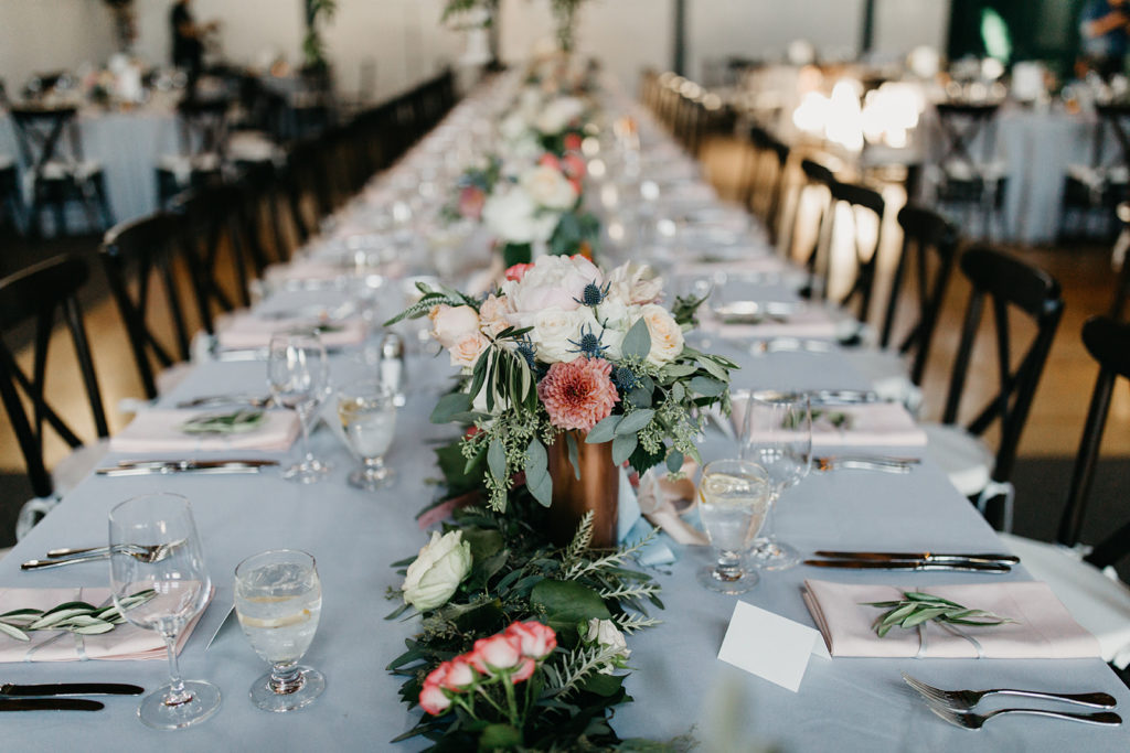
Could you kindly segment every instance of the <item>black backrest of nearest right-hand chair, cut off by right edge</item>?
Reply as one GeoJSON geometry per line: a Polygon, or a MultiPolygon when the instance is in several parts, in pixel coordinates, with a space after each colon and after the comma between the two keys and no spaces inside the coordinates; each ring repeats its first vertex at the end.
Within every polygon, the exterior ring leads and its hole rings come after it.
{"type": "MultiPolygon", "coordinates": [[[[1103,429],[1111,408],[1111,395],[1118,377],[1130,379],[1130,323],[1116,322],[1109,317],[1092,317],[1083,326],[1083,343],[1092,358],[1098,361],[1098,379],[1090,397],[1087,422],[1084,424],[1079,452],[1075,458],[1071,485],[1068,489],[1067,507],[1060,518],[1057,541],[1074,546],[1079,541],[1086,515],[1087,497],[1098,461],[1098,448],[1103,441],[1103,429]]],[[[1087,561],[1104,568],[1130,553],[1130,524],[1096,544],[1087,561]]]]}

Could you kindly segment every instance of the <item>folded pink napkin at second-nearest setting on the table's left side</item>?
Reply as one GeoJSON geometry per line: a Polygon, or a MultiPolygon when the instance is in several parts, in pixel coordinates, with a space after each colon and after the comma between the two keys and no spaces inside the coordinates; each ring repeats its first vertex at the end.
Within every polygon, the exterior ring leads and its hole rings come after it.
{"type": "Polygon", "coordinates": [[[298,419],[293,411],[267,411],[262,423],[243,434],[190,434],[185,421],[221,411],[155,409],[138,413],[110,440],[118,453],[197,453],[229,449],[258,449],[281,453],[298,436],[298,419]]]}

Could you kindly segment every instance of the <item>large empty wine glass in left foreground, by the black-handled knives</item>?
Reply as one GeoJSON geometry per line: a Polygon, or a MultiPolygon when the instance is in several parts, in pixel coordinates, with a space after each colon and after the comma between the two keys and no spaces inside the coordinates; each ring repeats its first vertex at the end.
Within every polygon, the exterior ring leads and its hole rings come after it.
{"type": "Polygon", "coordinates": [[[180,729],[211,716],[219,708],[219,689],[182,680],[176,664],[176,638],[203,611],[211,593],[189,500],[146,494],[111,510],[110,588],[122,616],[159,632],[168,648],[169,682],[142,699],[141,721],[180,729]],[[132,598],[150,589],[148,599],[132,598]]]}

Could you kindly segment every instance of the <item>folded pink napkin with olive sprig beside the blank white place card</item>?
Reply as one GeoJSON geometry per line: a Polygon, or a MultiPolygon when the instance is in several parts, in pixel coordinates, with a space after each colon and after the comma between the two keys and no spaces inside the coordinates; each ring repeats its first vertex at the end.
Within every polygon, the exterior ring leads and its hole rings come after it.
{"type": "Polygon", "coordinates": [[[955,625],[968,638],[931,623],[925,629],[924,645],[918,630],[894,628],[879,638],[872,625],[884,610],[863,603],[896,601],[904,590],[914,588],[806,580],[803,596],[833,656],[930,659],[1101,656],[1095,637],[1079,627],[1048,584],[1040,581],[930,586],[922,590],[1017,622],[993,628],[955,625]]]}

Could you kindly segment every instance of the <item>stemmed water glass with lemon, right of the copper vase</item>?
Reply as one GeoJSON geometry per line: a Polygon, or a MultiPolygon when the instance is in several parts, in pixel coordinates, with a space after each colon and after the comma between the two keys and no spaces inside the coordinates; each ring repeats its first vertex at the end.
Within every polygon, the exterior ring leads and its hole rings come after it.
{"type": "Polygon", "coordinates": [[[699,516],[715,563],[698,571],[698,583],[722,594],[744,594],[759,580],[744,566],[744,555],[765,522],[770,478],[750,461],[714,461],[698,483],[699,516]]]}

